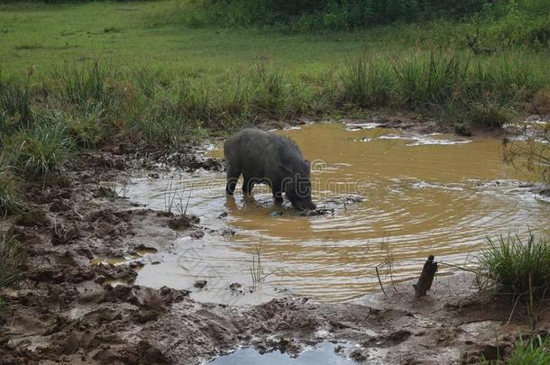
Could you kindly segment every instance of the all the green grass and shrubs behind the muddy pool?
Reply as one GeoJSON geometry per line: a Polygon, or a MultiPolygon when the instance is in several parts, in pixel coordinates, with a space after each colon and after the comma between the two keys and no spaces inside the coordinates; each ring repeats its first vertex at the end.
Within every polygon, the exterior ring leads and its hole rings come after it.
{"type": "Polygon", "coordinates": [[[21,209],[18,180],[112,141],[177,148],[245,122],[380,109],[498,128],[545,105],[545,4],[0,5],[1,212],[21,209]]]}

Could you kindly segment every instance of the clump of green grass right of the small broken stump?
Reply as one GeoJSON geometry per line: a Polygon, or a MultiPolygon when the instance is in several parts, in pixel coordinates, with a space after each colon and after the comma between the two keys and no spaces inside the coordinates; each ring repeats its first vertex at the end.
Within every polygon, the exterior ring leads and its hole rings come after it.
{"type": "Polygon", "coordinates": [[[479,253],[479,274],[484,285],[513,297],[541,297],[550,287],[550,242],[529,233],[488,238],[489,247],[479,253]]]}

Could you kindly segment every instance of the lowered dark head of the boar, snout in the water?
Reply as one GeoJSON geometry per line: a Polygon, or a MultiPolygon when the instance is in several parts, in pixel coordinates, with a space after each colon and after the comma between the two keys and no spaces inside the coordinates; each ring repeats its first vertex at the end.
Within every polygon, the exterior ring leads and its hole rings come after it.
{"type": "Polygon", "coordinates": [[[311,180],[309,173],[311,166],[308,160],[299,161],[289,170],[289,177],[285,178],[285,193],[290,203],[298,210],[313,210],[316,205],[311,201],[311,180]]]}

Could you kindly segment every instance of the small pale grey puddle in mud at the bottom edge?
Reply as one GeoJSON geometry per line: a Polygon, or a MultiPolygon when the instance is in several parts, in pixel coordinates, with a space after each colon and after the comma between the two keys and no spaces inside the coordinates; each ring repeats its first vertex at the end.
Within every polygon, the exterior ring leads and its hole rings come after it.
{"type": "Polygon", "coordinates": [[[253,348],[239,349],[208,362],[211,365],[353,365],[356,362],[337,353],[332,342],[319,342],[296,357],[288,353],[271,351],[261,354],[253,348]]]}

